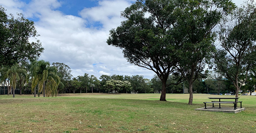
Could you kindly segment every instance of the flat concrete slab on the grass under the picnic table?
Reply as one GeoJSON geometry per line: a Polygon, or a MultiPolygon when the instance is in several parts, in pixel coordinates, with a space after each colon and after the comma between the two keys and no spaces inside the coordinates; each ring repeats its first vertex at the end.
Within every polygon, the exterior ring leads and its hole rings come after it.
{"type": "Polygon", "coordinates": [[[202,108],[198,108],[195,110],[202,110],[202,111],[212,111],[212,112],[224,112],[224,113],[239,113],[241,111],[244,111],[245,108],[237,108],[236,110],[234,110],[234,107],[221,107],[219,109],[219,107],[207,107],[207,109],[204,109],[204,107],[202,108]]]}

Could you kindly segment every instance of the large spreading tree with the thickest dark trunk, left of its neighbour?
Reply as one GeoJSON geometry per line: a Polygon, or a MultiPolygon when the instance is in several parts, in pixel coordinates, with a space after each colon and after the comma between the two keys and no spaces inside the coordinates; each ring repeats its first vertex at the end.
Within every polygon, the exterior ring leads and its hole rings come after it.
{"type": "Polygon", "coordinates": [[[131,64],[157,74],[162,81],[160,101],[166,101],[166,81],[177,64],[177,59],[171,58],[178,41],[172,30],[177,21],[176,1],[137,0],[122,12],[126,20],[110,31],[107,40],[109,45],[121,48],[131,64]]]}

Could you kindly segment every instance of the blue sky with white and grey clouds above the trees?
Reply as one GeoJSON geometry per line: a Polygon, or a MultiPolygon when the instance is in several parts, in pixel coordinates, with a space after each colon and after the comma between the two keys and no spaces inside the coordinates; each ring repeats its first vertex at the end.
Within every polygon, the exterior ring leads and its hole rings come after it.
{"type": "MultiPolygon", "coordinates": [[[[7,14],[33,20],[44,52],[40,60],[67,64],[78,75],[143,75],[154,72],[129,64],[122,50],[108,46],[109,31],[124,20],[120,12],[136,0],[0,0],[7,14]]],[[[242,0],[233,0],[237,5],[242,0]]]]}

